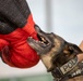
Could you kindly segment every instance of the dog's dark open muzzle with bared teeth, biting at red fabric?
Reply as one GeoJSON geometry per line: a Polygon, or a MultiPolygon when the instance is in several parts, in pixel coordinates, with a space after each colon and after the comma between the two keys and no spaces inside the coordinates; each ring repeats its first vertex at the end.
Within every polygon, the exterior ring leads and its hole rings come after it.
{"type": "Polygon", "coordinates": [[[36,27],[36,31],[39,40],[34,40],[29,37],[27,42],[38,54],[46,54],[52,46],[51,35],[48,36],[49,33],[44,32],[38,27],[36,27]]]}

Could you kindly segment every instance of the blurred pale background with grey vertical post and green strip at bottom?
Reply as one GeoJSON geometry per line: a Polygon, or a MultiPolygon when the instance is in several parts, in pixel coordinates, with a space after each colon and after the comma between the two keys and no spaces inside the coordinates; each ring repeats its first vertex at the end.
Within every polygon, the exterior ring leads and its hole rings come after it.
{"type": "MultiPolygon", "coordinates": [[[[27,0],[35,23],[47,32],[55,32],[68,42],[83,40],[83,0],[27,0]]],[[[0,81],[52,81],[39,62],[27,69],[12,68],[0,59],[0,81]]]]}

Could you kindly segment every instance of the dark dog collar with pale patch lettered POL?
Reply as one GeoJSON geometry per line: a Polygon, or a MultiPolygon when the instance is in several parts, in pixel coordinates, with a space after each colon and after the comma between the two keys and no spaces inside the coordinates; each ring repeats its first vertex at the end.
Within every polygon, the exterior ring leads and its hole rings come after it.
{"type": "Polygon", "coordinates": [[[64,81],[74,77],[83,76],[83,62],[78,64],[78,57],[75,57],[63,66],[57,67],[51,71],[51,73],[55,77],[55,81],[64,81]],[[78,67],[78,69],[72,71],[72,67],[78,67]]]}

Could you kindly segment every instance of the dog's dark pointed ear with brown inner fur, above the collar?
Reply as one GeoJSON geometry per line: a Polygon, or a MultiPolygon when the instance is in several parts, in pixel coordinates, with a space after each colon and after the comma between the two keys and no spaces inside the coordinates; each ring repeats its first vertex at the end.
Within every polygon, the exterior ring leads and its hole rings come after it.
{"type": "Polygon", "coordinates": [[[72,43],[67,43],[63,50],[63,56],[66,57],[67,62],[71,58],[75,57],[79,53],[82,53],[81,49],[72,43]]]}

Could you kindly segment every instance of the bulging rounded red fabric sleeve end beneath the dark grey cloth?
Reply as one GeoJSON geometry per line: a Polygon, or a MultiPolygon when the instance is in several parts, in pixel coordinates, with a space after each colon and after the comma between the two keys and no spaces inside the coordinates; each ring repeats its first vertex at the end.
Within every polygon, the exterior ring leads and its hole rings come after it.
{"type": "MultiPolygon", "coordinates": [[[[9,28],[11,29],[10,26],[9,28]]],[[[39,60],[39,56],[28,45],[26,41],[28,37],[26,36],[26,32],[24,32],[21,28],[17,28],[8,35],[0,35],[3,43],[0,44],[1,49],[3,49],[3,62],[5,62],[10,66],[19,68],[28,68],[36,65],[39,60]],[[9,46],[5,48],[5,45],[9,46]]]]}

